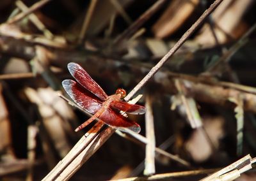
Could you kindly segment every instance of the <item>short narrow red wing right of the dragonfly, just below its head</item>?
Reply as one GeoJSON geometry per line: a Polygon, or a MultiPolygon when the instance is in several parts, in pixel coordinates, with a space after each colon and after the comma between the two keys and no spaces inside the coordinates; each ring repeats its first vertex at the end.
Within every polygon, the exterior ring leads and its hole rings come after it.
{"type": "Polygon", "coordinates": [[[120,111],[131,113],[131,114],[143,114],[146,112],[146,108],[140,105],[132,105],[124,101],[112,101],[111,106],[120,111]]]}

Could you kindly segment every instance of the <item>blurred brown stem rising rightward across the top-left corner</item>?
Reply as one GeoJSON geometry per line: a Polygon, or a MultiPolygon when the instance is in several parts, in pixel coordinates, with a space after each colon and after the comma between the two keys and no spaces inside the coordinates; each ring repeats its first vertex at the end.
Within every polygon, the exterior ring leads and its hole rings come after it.
{"type": "Polygon", "coordinates": [[[52,0],[41,0],[41,1],[38,1],[37,3],[33,4],[33,6],[31,6],[28,9],[28,11],[19,13],[15,17],[10,18],[7,21],[7,24],[13,24],[15,22],[18,22],[19,20],[21,20],[22,18],[28,16],[29,14],[31,14],[34,11],[38,10],[39,8],[42,8],[42,6],[44,6],[45,4],[49,3],[50,1],[52,1],[52,0]]]}

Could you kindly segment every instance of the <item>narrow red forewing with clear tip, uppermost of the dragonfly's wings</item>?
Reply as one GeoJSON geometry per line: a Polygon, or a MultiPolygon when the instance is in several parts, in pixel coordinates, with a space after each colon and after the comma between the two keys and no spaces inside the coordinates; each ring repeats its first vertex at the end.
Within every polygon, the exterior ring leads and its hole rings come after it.
{"type": "Polygon", "coordinates": [[[68,64],[68,70],[70,74],[79,82],[85,89],[92,92],[95,96],[105,101],[108,95],[102,90],[102,88],[96,83],[92,77],[81,67],[79,64],[70,62],[68,64]]]}

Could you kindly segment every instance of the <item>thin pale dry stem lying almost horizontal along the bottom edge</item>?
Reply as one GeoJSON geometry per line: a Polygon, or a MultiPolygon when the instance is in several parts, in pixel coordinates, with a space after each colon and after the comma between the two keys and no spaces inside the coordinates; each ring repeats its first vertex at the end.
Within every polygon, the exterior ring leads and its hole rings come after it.
{"type": "Polygon", "coordinates": [[[119,179],[118,181],[160,180],[160,179],[168,180],[168,178],[170,179],[173,177],[188,177],[188,176],[193,176],[193,175],[212,173],[214,171],[216,171],[216,169],[180,171],[180,172],[173,172],[173,173],[161,173],[161,174],[157,174],[157,175],[152,175],[150,177],[130,177],[130,178],[119,179]]]}

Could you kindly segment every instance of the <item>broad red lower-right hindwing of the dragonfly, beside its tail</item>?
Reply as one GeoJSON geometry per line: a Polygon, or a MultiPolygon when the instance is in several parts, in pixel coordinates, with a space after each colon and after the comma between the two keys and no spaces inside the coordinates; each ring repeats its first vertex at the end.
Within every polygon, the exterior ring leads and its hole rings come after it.
{"type": "Polygon", "coordinates": [[[104,123],[108,124],[108,126],[115,127],[116,129],[120,129],[121,131],[125,131],[124,128],[130,129],[135,133],[140,133],[140,125],[134,122],[133,120],[127,119],[119,112],[108,108],[105,110],[102,115],[99,117],[104,123]]]}

